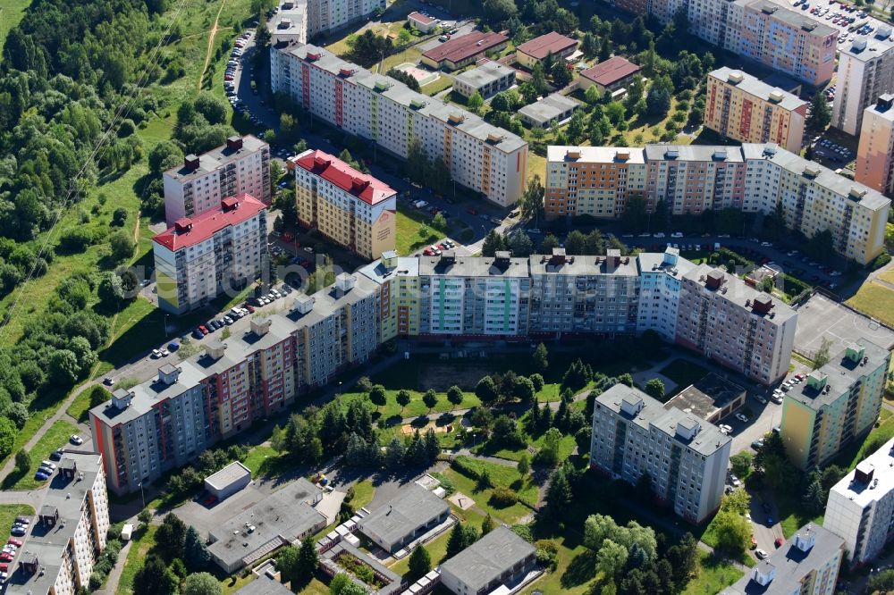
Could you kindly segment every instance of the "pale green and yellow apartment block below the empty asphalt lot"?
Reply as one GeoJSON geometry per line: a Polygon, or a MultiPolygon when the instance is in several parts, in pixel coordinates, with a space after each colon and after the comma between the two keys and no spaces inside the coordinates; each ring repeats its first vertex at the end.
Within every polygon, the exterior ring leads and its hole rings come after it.
{"type": "Polygon", "coordinates": [[[881,412],[890,352],[860,339],[807,374],[782,403],[782,441],[799,469],[827,465],[881,412]]]}

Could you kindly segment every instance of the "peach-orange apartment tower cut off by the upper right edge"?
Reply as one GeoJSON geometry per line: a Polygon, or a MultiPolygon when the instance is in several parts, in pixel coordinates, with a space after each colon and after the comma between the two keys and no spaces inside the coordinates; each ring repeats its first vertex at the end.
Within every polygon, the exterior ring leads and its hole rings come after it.
{"type": "Polygon", "coordinates": [[[894,196],[894,95],[879,96],[864,111],[854,180],[894,196]]]}

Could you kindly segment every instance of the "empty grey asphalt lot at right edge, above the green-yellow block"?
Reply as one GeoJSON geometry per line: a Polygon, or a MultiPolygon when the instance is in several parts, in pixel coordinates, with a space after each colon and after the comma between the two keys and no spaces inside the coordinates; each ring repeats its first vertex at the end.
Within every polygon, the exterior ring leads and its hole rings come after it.
{"type": "Polygon", "coordinates": [[[864,338],[883,348],[894,348],[894,331],[818,293],[797,308],[795,350],[814,354],[823,338],[833,341],[831,354],[838,353],[848,342],[864,338]]]}

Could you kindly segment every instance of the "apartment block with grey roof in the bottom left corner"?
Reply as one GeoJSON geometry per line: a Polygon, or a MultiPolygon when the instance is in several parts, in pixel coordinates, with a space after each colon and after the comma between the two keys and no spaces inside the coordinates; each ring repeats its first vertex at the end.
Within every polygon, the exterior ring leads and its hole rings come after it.
{"type": "Polygon", "coordinates": [[[105,549],[108,495],[102,457],[68,452],[59,462],[36,521],[6,579],[6,593],[75,595],[86,590],[105,549]]]}

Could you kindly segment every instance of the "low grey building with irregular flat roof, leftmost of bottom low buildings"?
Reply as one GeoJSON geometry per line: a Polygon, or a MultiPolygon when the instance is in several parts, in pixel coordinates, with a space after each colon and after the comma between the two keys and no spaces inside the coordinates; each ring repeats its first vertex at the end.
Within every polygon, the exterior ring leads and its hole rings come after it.
{"type": "Polygon", "coordinates": [[[259,501],[208,533],[211,559],[225,573],[249,566],[326,526],[314,506],[323,491],[304,478],[259,501]]]}

